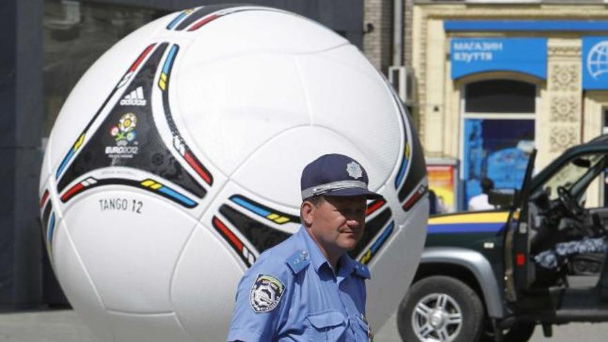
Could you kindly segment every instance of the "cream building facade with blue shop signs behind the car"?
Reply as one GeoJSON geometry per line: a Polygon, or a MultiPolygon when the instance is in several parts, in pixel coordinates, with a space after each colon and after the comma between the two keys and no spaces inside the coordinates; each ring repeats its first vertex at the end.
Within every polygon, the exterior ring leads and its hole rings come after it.
{"type": "MultiPolygon", "coordinates": [[[[457,164],[466,209],[484,177],[519,187],[608,126],[608,8],[602,1],[414,1],[412,114],[427,158],[457,164]]],[[[602,205],[596,184],[587,205],[602,205]]]]}

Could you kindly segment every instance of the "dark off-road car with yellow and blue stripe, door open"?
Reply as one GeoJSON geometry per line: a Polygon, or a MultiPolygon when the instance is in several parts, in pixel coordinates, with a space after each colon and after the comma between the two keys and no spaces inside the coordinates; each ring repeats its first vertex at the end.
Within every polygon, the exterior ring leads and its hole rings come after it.
{"type": "Polygon", "coordinates": [[[403,341],[522,342],[537,325],[551,336],[555,324],[608,321],[608,207],[594,205],[602,202],[608,135],[533,175],[535,156],[519,190],[488,193],[498,209],[429,218],[397,310],[403,341]]]}

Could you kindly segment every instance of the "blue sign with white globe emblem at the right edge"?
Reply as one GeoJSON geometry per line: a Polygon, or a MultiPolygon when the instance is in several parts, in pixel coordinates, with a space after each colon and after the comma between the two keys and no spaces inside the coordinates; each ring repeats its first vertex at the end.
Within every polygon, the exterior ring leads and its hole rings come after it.
{"type": "Polygon", "coordinates": [[[608,89],[608,36],[582,37],[582,88],[608,89]]]}

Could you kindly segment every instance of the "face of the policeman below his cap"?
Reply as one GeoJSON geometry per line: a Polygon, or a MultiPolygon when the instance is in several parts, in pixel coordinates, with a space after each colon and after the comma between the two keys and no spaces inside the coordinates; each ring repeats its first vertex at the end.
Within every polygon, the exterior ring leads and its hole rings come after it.
{"type": "Polygon", "coordinates": [[[343,253],[352,250],[365,227],[364,196],[325,196],[312,209],[310,232],[326,253],[343,253]]]}

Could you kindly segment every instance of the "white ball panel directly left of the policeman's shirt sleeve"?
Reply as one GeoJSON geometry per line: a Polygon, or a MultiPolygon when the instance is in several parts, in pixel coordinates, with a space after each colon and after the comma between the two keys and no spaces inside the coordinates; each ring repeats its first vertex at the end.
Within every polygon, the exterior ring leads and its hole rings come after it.
{"type": "MultiPolygon", "coordinates": [[[[210,225],[209,221],[209,225],[210,225]]],[[[212,228],[211,228],[212,229],[212,228]]],[[[210,228],[196,227],[175,267],[171,301],[186,330],[200,341],[222,341],[228,332],[243,264],[210,228]]]]}

